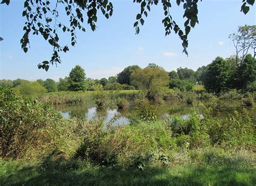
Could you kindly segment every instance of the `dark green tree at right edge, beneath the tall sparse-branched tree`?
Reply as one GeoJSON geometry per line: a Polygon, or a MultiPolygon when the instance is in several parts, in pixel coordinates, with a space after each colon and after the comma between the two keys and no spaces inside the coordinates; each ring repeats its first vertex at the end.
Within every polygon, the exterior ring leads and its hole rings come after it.
{"type": "Polygon", "coordinates": [[[251,54],[247,54],[244,62],[235,72],[234,86],[238,89],[246,89],[252,86],[254,81],[256,81],[256,59],[251,54]]]}

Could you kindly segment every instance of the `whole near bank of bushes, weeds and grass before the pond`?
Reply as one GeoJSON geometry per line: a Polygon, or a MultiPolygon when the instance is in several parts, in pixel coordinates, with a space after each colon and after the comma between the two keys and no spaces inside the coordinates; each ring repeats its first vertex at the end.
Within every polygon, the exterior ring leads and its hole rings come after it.
{"type": "Polygon", "coordinates": [[[217,118],[201,105],[203,119],[194,111],[152,120],[140,107],[131,125],[113,127],[65,120],[12,91],[1,93],[0,106],[0,185],[255,183],[255,123],[246,110],[217,118]]]}

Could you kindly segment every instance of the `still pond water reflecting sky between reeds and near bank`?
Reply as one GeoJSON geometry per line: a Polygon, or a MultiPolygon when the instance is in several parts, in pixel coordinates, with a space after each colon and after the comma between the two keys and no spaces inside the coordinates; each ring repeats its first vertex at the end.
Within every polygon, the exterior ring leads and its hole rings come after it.
{"type": "MultiPolygon", "coordinates": [[[[187,105],[184,101],[176,100],[164,101],[164,104],[161,105],[151,104],[157,108],[157,115],[160,118],[176,115],[186,119],[194,109],[198,109],[199,112],[202,111],[202,108],[198,105],[199,103],[202,103],[205,106],[214,105],[213,114],[215,116],[227,116],[228,114],[233,114],[233,111],[241,112],[242,108],[246,108],[253,121],[256,121],[256,107],[241,106],[241,101],[237,100],[197,101],[194,105],[187,105]]],[[[113,125],[129,124],[128,115],[135,112],[134,102],[132,101],[130,102],[129,109],[118,109],[114,104],[110,104],[105,109],[100,109],[92,103],[82,105],[55,105],[55,109],[59,111],[64,118],[78,117],[90,120],[94,117],[104,117],[106,123],[111,121],[114,116],[118,114],[119,117],[113,122],[113,125]]],[[[201,116],[203,117],[203,115],[201,116]]]]}

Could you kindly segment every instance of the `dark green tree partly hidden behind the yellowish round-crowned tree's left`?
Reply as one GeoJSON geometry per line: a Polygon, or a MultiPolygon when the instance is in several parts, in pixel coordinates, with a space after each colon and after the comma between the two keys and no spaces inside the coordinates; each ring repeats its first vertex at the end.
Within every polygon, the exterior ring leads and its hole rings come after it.
{"type": "Polygon", "coordinates": [[[141,68],[138,65],[132,65],[132,66],[128,66],[128,67],[124,68],[124,70],[122,72],[117,74],[117,82],[119,82],[119,84],[131,85],[130,77],[131,77],[131,74],[136,69],[141,69],[141,68]]]}

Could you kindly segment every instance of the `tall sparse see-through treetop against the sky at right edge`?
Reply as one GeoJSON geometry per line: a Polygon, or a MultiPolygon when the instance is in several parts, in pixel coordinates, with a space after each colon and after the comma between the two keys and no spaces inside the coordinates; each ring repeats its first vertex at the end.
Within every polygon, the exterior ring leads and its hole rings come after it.
{"type": "Polygon", "coordinates": [[[235,47],[235,62],[237,66],[239,65],[239,55],[241,55],[240,63],[242,63],[250,49],[256,49],[256,25],[244,25],[238,27],[238,32],[233,33],[229,36],[231,38],[233,45],[235,47]]]}

